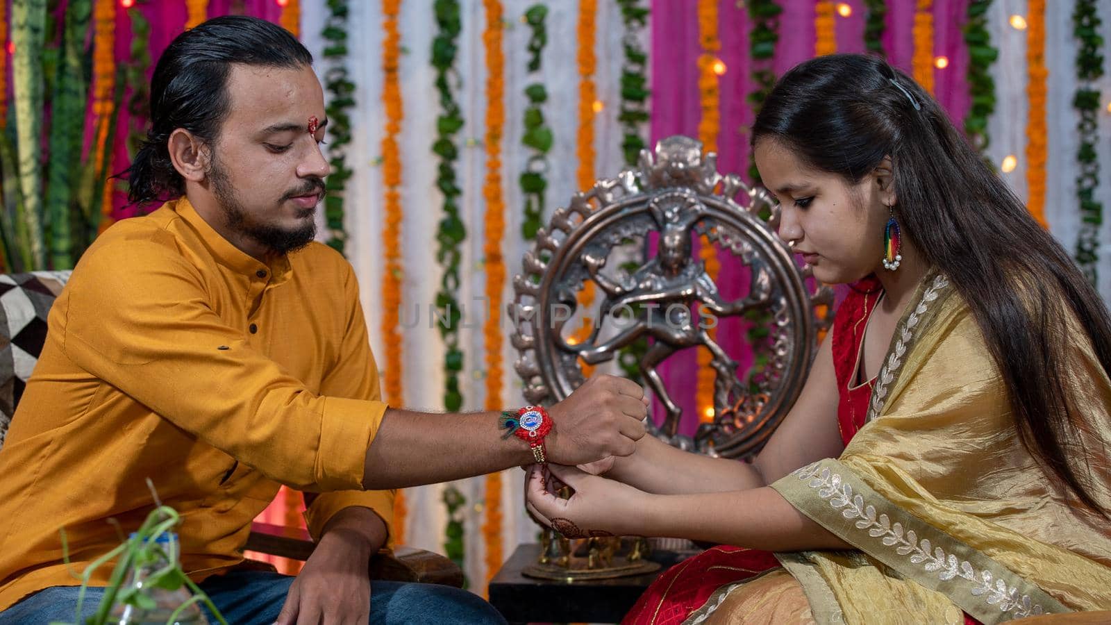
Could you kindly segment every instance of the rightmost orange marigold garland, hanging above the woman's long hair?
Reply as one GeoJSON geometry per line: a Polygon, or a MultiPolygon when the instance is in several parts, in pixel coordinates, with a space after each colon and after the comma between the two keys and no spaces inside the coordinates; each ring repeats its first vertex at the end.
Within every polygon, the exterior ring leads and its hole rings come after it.
{"type": "Polygon", "coordinates": [[[1042,225],[1045,221],[1045,156],[1049,152],[1045,128],[1045,0],[1027,4],[1027,209],[1042,225]]]}

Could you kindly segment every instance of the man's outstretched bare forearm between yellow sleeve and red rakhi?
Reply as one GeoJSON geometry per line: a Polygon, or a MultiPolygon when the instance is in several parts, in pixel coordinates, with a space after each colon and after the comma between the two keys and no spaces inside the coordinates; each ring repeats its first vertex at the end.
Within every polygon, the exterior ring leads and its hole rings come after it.
{"type": "MultiPolygon", "coordinates": [[[[363,488],[383,490],[483,475],[534,460],[527,443],[503,438],[498,413],[441,415],[390,408],[367,449],[363,488]]],[[[548,436],[548,445],[559,436],[548,436]]]]}

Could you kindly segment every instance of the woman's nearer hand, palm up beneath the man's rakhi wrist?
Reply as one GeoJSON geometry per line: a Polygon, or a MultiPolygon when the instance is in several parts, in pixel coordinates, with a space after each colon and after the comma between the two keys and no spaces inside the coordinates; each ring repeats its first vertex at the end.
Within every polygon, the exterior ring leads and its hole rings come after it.
{"type": "Polygon", "coordinates": [[[548,527],[568,538],[644,535],[644,512],[651,495],[620,482],[562,465],[533,466],[526,507],[548,527]],[[557,497],[550,478],[571,487],[571,498],[557,497]]]}

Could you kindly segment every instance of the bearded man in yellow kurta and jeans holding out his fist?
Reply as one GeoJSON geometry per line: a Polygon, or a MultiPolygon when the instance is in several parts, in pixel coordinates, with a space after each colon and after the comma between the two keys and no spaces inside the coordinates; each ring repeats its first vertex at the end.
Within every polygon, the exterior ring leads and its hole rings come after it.
{"type": "Polygon", "coordinates": [[[182,33],[159,60],[130,195],[177,199],[104,232],[51,310],[0,452],[0,624],[72,619],[59,529],[84,569],[119,543],[108,519],[127,532],[150,512],[147,478],[181,513],[183,569],[231,623],[499,622],[462,591],[368,579],[389,489],[544,454],[629,455],[643,436],[643,394],[619,378],[588,381],[550,418],[380,400],[351,267],[311,242],[329,172],[311,60],[242,17],[182,33]],[[279,484],[309,494],[317,549],[297,578],[234,571],[279,484]]]}

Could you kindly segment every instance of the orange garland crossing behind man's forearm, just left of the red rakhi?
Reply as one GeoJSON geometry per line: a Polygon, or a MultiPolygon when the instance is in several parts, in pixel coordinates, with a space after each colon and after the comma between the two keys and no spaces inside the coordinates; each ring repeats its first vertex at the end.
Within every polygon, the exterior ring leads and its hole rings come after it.
{"type": "MultiPolygon", "coordinates": [[[[506,262],[501,254],[501,239],[506,236],[506,201],[501,189],[501,133],[506,126],[506,54],[502,44],[502,7],[499,0],[483,0],[486,30],[482,42],[486,46],[487,66],[487,111],[486,111],[486,182],[482,197],[486,199],[486,230],[482,252],[486,256],[486,296],[490,310],[483,323],[482,334],[486,347],[486,409],[504,408],[501,398],[501,349],[502,349],[502,288],[506,285],[506,262]]],[[[486,539],[487,583],[501,567],[501,473],[491,473],[486,479],[486,524],[482,536],[486,539]]]]}

